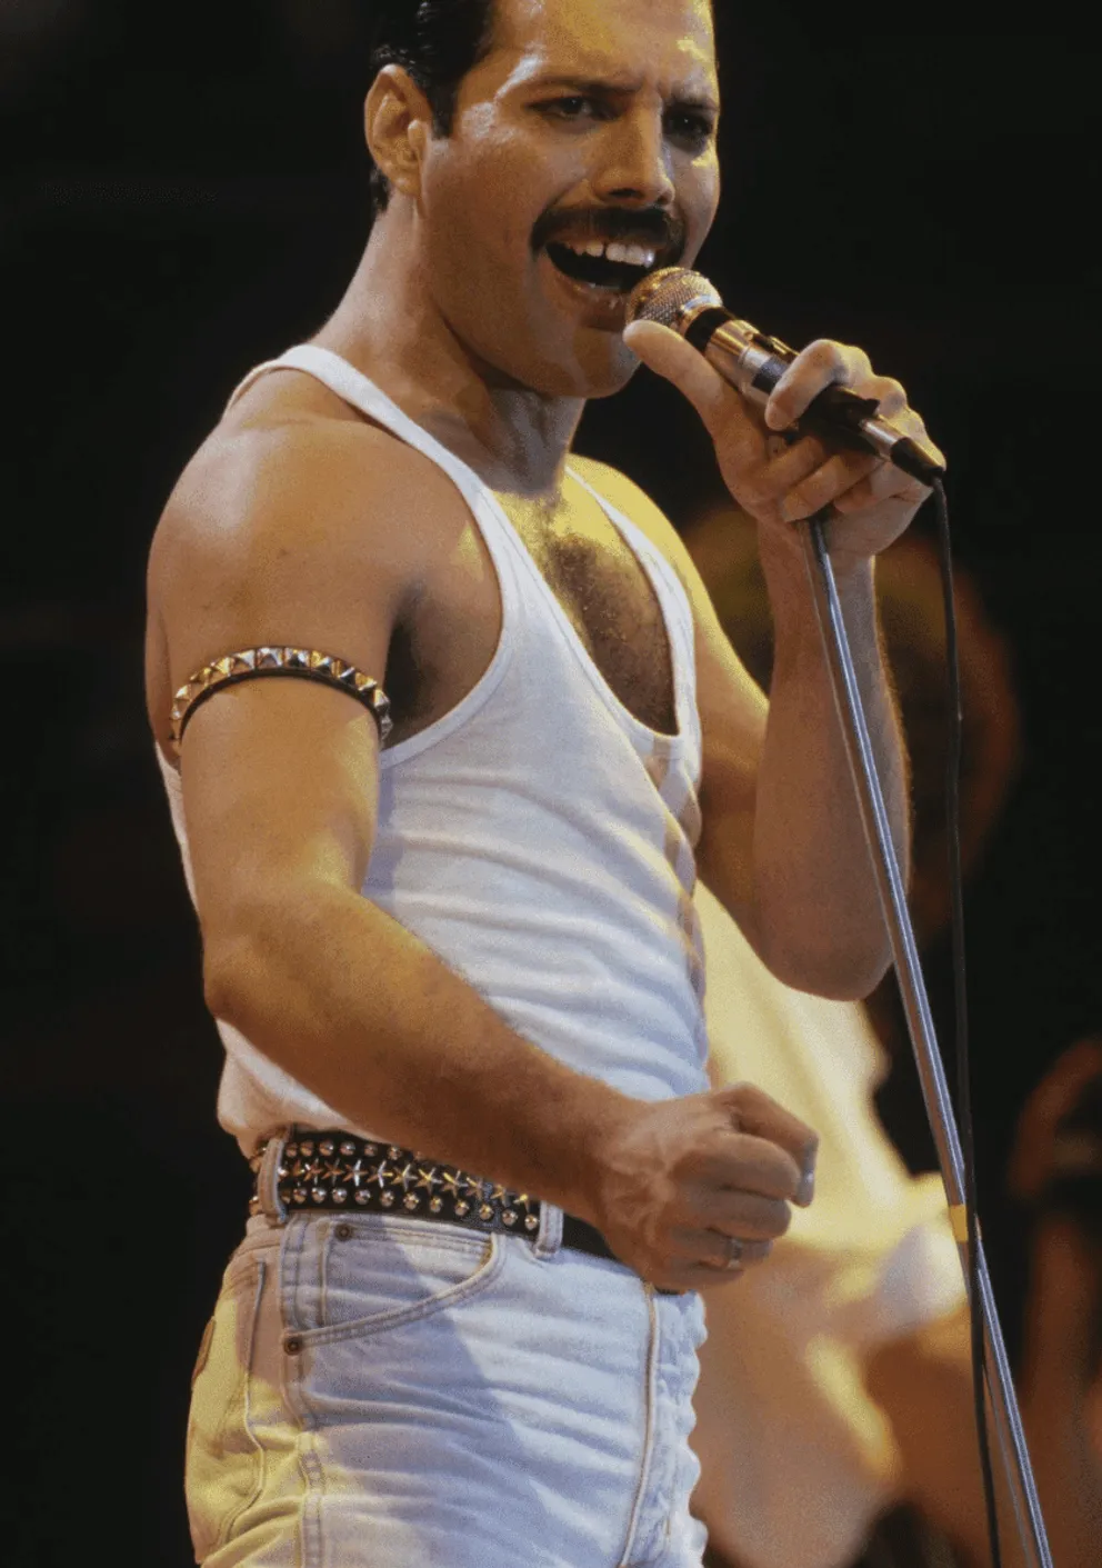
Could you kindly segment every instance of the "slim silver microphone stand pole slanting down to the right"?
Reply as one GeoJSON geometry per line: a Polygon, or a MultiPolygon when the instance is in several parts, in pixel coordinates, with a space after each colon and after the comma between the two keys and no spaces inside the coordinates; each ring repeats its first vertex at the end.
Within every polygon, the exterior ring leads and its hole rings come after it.
{"type": "Polygon", "coordinates": [[[1025,1447],[1025,1433],[1017,1408],[1017,1396],[1006,1358],[999,1311],[988,1273],[988,1259],[983,1243],[977,1234],[977,1278],[978,1298],[972,1292],[969,1272],[969,1236],[967,1236],[967,1204],[964,1189],[964,1159],[961,1142],[953,1120],[953,1104],[948,1098],[945,1069],[937,1049],[933,1014],[926,986],[919,963],[919,949],[911,925],[911,914],[906,903],[906,891],[900,864],[895,856],[884,792],[876,773],[868,724],[861,704],[857,674],[850,651],[850,640],[842,619],[842,602],[839,599],[834,568],[826,547],[826,532],[821,517],[810,517],[799,528],[804,546],[804,563],[815,597],[815,613],[818,616],[823,648],[831,671],[834,701],[845,734],[845,746],[853,771],[853,781],[861,804],[861,817],[868,840],[868,851],[873,859],[876,881],[879,887],[884,922],[892,946],[895,974],[903,997],[908,1032],[914,1046],[922,1082],[922,1096],[926,1102],[930,1127],[937,1146],[937,1163],[945,1184],[948,1214],[953,1223],[953,1234],[961,1254],[964,1279],[969,1286],[972,1312],[983,1317],[984,1342],[984,1381],[994,1427],[999,1441],[1003,1475],[1006,1479],[1017,1532],[1022,1541],[1022,1555],[1030,1568],[1052,1568],[1052,1555],[1041,1516],[1041,1504],[1036,1494],[1036,1483],[1030,1466],[1030,1455],[1025,1447]]]}

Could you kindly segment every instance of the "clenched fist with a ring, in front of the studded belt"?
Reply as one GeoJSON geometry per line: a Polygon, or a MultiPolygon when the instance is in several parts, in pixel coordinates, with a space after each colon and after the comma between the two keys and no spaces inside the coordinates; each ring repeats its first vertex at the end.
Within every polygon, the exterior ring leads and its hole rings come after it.
{"type": "Polygon", "coordinates": [[[812,1129],[752,1083],[633,1102],[596,1152],[593,1221],[651,1284],[715,1286],[768,1258],[790,1204],[810,1203],[817,1149],[812,1129]]]}

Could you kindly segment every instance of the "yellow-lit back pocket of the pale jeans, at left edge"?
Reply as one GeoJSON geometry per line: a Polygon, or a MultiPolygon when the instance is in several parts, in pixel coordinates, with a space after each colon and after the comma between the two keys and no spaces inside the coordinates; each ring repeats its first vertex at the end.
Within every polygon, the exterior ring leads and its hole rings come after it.
{"type": "Polygon", "coordinates": [[[196,1562],[221,1546],[263,1483],[251,1381],[265,1275],[266,1264],[256,1253],[230,1265],[196,1359],[185,1461],[196,1562]]]}

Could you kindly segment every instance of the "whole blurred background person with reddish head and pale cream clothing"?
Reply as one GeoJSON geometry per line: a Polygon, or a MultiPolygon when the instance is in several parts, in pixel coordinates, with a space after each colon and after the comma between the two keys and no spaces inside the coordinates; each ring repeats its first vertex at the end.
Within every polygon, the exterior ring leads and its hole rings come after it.
{"type": "MultiPolygon", "coordinates": [[[[752,524],[716,506],[685,543],[724,630],[768,688],[771,627],[752,524]]],[[[878,564],[878,588],[912,750],[911,909],[925,942],[948,919],[934,549],[920,536],[900,541],[878,564]]],[[[1005,644],[962,572],[956,607],[962,856],[972,867],[1014,778],[1019,718],[1005,644]]],[[[795,1217],[768,1265],[738,1290],[709,1297],[694,1443],[696,1507],[715,1562],[839,1568],[865,1549],[881,1515],[906,1502],[917,1515],[906,1541],[890,1546],[892,1530],[878,1530],[868,1563],[942,1563],[944,1538],[964,1562],[986,1563],[961,1265],[941,1178],[911,1178],[876,1116],[889,1058],[870,1011],[788,989],[705,887],[698,908],[713,1082],[760,1083],[820,1132],[814,1210],[795,1217]]],[[[881,999],[881,1016],[889,1007],[881,999]]]]}

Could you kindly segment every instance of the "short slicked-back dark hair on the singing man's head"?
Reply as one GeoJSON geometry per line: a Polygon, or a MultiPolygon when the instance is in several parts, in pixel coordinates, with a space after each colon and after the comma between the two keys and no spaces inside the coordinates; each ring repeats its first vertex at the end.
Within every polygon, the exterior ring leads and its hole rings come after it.
{"type": "MultiPolygon", "coordinates": [[[[495,0],[376,0],[373,77],[401,66],[433,110],[437,136],[451,133],[459,83],[491,50],[495,0]]],[[[372,169],[372,210],[386,210],[390,182],[372,169]]]]}

